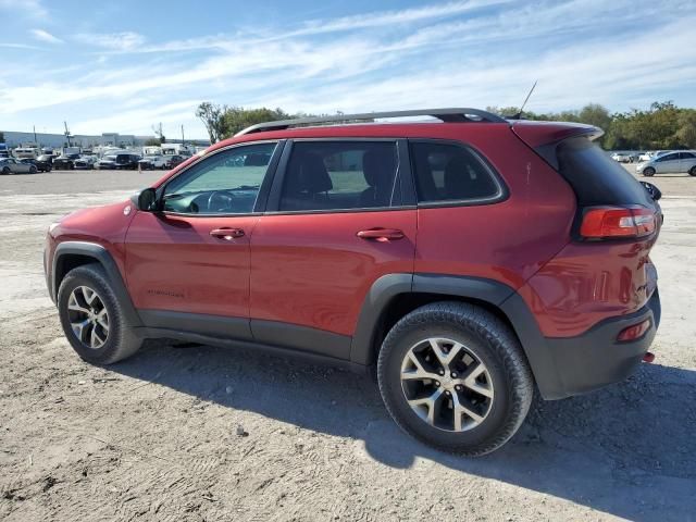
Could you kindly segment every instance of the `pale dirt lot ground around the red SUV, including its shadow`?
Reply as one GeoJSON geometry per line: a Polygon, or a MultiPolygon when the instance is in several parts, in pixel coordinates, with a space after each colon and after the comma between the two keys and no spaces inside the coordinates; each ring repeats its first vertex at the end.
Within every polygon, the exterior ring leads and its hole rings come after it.
{"type": "Polygon", "coordinates": [[[696,178],[659,176],[663,315],[626,382],[540,402],[500,451],[427,449],[369,378],[248,350],[70,348],[46,229],[161,173],[0,176],[0,519],[696,520],[696,178]]]}

